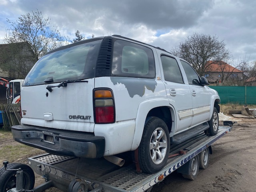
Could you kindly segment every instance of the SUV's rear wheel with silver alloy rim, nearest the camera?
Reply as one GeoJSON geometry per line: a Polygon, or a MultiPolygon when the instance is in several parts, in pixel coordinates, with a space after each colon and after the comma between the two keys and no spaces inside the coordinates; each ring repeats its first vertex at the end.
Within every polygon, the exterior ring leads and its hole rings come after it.
{"type": "Polygon", "coordinates": [[[152,117],[145,125],[140,146],[138,160],[140,168],[146,173],[160,171],[168,160],[170,152],[170,136],[165,122],[152,117]]]}

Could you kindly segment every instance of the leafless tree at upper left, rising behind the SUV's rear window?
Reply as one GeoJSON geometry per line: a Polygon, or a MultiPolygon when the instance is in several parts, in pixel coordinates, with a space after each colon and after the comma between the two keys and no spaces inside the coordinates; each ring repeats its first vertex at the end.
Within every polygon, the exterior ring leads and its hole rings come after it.
{"type": "Polygon", "coordinates": [[[36,61],[46,52],[68,44],[67,38],[61,36],[57,28],[50,25],[50,19],[44,18],[38,10],[21,15],[16,21],[7,19],[7,22],[10,23],[10,28],[4,42],[28,42],[36,61]]]}

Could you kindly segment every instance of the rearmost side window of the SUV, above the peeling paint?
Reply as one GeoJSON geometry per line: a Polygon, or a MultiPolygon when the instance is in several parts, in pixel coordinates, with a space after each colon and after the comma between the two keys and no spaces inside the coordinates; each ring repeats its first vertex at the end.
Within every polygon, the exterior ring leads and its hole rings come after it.
{"type": "Polygon", "coordinates": [[[132,42],[116,40],[114,42],[112,75],[155,78],[152,50],[132,42]]]}

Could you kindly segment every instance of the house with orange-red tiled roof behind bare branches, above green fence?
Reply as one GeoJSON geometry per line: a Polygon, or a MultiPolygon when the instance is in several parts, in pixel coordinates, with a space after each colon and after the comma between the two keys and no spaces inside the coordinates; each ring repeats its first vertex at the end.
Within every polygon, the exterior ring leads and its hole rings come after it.
{"type": "Polygon", "coordinates": [[[224,61],[208,61],[204,76],[209,83],[237,82],[242,80],[244,72],[224,61]]]}

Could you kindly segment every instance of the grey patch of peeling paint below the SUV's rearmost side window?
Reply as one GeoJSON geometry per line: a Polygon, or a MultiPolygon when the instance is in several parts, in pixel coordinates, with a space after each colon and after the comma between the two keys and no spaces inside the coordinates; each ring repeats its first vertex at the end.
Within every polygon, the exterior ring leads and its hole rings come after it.
{"type": "Polygon", "coordinates": [[[154,93],[156,89],[156,81],[154,79],[131,78],[131,77],[110,77],[114,85],[118,83],[124,84],[131,98],[135,95],[142,97],[145,90],[148,89],[154,93]]]}

